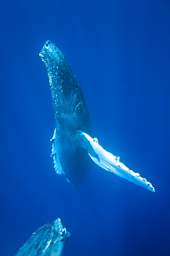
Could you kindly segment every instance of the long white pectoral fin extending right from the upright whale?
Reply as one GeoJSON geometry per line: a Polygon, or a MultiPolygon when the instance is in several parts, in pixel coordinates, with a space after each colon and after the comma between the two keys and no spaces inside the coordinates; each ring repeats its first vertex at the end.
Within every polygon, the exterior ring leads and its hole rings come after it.
{"type": "Polygon", "coordinates": [[[108,172],[113,172],[114,174],[127,179],[140,185],[140,187],[149,190],[150,192],[155,192],[153,185],[145,178],[142,178],[140,174],[129,170],[123,163],[120,162],[119,156],[114,156],[113,154],[107,152],[98,143],[97,138],[92,138],[83,131],[78,131],[76,134],[77,142],[79,146],[85,148],[87,153],[92,158],[94,163],[107,170],[108,172]]]}

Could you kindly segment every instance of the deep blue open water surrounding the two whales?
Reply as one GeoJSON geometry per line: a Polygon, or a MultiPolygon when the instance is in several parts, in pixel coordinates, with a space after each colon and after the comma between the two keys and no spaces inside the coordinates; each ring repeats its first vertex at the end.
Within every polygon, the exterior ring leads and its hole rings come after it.
{"type": "Polygon", "coordinates": [[[170,1],[0,1],[1,256],[60,217],[65,256],[170,255],[170,1]],[[55,174],[54,114],[39,52],[50,39],[80,82],[93,134],[156,192],[92,163],[55,174]]]}

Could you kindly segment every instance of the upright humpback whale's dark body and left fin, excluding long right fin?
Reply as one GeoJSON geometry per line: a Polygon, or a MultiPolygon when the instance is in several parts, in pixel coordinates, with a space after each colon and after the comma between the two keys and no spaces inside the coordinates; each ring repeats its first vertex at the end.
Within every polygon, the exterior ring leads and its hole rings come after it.
{"type": "Polygon", "coordinates": [[[56,122],[52,138],[54,167],[71,183],[79,183],[87,172],[87,156],[76,142],[76,132],[81,129],[91,134],[85,99],[65,56],[54,44],[45,42],[40,56],[47,67],[56,122]]]}

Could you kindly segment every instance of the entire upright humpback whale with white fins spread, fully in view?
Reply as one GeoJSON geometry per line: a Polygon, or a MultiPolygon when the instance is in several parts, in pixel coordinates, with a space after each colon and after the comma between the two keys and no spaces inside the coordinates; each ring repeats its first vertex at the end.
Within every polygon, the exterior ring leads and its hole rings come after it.
{"type": "Polygon", "coordinates": [[[121,163],[120,157],[103,149],[97,138],[92,138],[81,86],[65,55],[50,41],[45,42],[39,55],[47,68],[52,94],[56,122],[52,157],[56,173],[65,174],[71,183],[80,182],[87,171],[85,163],[88,154],[103,169],[154,192],[153,185],[147,179],[121,163]]]}

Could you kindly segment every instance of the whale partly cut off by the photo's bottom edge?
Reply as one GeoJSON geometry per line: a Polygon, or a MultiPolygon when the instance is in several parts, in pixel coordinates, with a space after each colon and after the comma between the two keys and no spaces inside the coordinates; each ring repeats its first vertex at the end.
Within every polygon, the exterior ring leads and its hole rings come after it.
{"type": "Polygon", "coordinates": [[[63,246],[69,237],[70,232],[58,218],[32,233],[16,256],[61,256],[63,246]]]}

